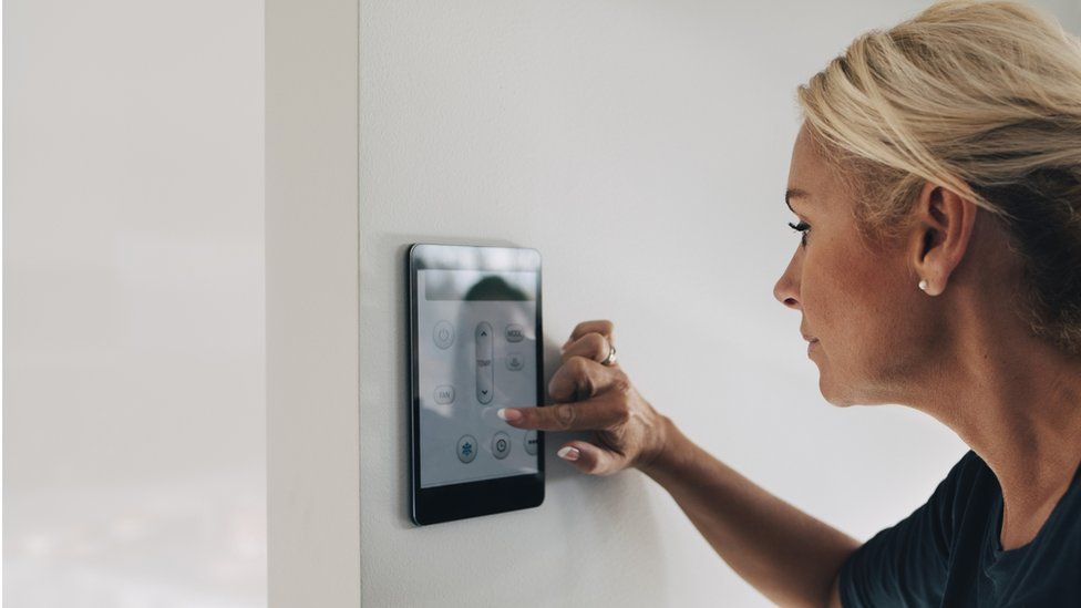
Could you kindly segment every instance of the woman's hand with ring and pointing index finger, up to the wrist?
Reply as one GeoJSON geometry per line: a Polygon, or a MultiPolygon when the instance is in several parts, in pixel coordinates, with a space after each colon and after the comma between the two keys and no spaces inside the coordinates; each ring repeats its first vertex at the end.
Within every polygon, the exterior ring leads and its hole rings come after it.
{"type": "Polygon", "coordinates": [[[648,466],[663,450],[667,434],[667,418],[638,394],[619,364],[600,363],[615,343],[612,329],[610,321],[586,321],[570,333],[563,364],[548,383],[556,404],[500,410],[518,429],[595,431],[595,443],[572,441],[559,450],[593,475],[648,466]]]}

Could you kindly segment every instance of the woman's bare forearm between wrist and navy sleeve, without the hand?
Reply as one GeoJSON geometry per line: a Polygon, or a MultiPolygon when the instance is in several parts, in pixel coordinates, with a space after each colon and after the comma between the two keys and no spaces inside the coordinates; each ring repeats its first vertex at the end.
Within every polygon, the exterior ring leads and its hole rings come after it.
{"type": "Polygon", "coordinates": [[[638,468],[671,494],[733,570],[782,606],[840,607],[859,543],[721,463],[662,418],[663,447],[638,468]]]}

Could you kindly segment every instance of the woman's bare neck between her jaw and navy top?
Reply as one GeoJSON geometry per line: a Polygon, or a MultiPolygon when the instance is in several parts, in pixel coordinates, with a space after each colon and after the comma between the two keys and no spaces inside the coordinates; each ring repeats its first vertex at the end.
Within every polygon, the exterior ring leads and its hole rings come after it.
{"type": "Polygon", "coordinates": [[[995,473],[1002,548],[1017,548],[1039,533],[1081,463],[1081,360],[1026,331],[949,350],[956,364],[944,362],[938,390],[914,406],[951,427],[995,473]]]}

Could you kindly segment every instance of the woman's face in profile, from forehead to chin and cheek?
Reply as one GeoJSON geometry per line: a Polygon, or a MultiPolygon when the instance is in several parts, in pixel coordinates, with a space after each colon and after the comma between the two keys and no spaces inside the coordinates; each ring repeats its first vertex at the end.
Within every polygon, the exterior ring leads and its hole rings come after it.
{"type": "Polygon", "coordinates": [[[806,229],[773,293],[803,313],[823,396],[835,405],[902,402],[934,337],[905,247],[864,244],[855,200],[806,126],[792,150],[786,198],[806,229]]]}

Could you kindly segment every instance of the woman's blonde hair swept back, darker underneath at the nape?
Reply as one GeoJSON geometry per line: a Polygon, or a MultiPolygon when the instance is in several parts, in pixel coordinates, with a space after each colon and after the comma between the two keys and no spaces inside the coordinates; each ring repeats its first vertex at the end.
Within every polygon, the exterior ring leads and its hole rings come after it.
{"type": "Polygon", "coordinates": [[[892,238],[927,182],[1008,227],[1038,336],[1081,354],[1081,41],[1016,2],[939,2],[861,37],[807,84],[809,130],[892,238]]]}

